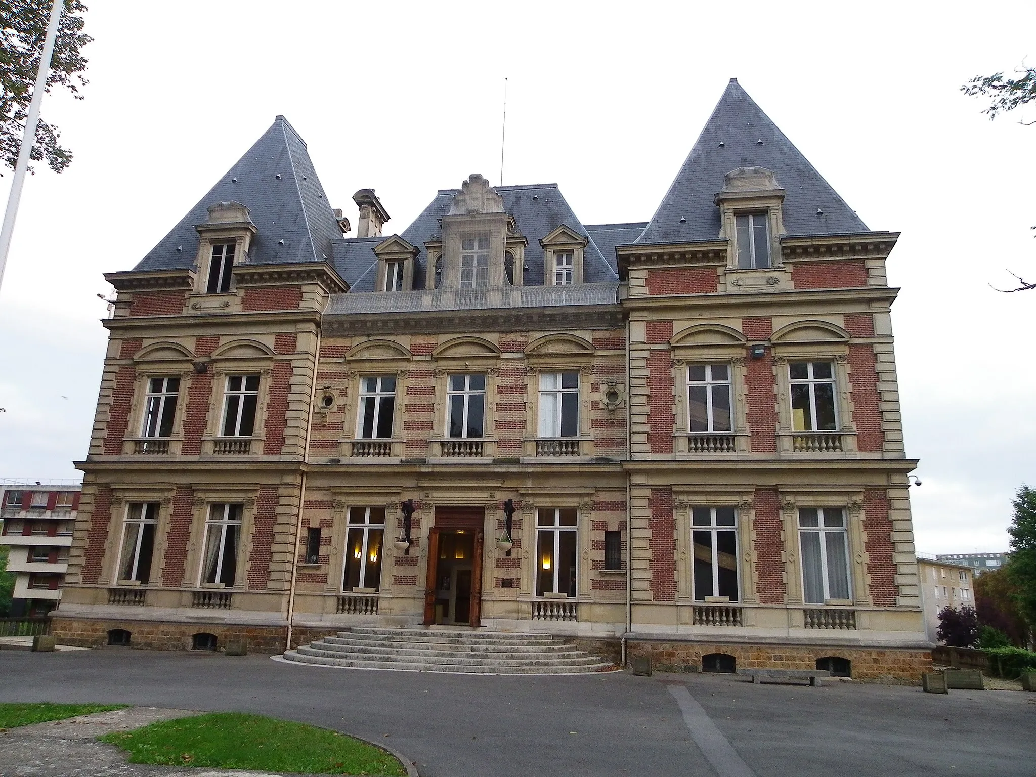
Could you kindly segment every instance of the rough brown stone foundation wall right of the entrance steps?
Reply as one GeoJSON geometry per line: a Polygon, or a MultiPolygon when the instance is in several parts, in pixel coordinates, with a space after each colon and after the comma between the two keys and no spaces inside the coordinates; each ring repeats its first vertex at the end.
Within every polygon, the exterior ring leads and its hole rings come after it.
{"type": "Polygon", "coordinates": [[[646,656],[656,671],[701,671],[701,657],[712,653],[733,656],[739,669],[815,669],[816,659],[834,656],[852,662],[854,680],[896,685],[920,685],[921,673],[931,671],[930,651],[633,640],[626,645],[628,662],[646,656]]]}

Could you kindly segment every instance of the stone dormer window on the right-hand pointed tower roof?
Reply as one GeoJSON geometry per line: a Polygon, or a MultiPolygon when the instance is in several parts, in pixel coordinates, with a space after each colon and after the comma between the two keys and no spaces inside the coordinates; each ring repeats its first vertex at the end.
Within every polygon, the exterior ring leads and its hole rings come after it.
{"type": "Polygon", "coordinates": [[[715,203],[720,209],[719,236],[730,241],[731,268],[780,266],[783,202],[784,190],[771,170],[739,167],[723,177],[715,203]]]}

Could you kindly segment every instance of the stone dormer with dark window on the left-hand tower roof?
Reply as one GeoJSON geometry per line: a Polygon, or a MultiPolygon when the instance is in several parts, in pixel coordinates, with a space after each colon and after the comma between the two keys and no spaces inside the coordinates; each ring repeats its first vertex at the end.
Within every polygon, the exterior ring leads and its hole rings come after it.
{"type": "Polygon", "coordinates": [[[196,224],[198,286],[200,294],[226,294],[233,285],[235,264],[248,261],[252,238],[258,231],[249,209],[233,200],[208,206],[208,221],[196,224]]]}

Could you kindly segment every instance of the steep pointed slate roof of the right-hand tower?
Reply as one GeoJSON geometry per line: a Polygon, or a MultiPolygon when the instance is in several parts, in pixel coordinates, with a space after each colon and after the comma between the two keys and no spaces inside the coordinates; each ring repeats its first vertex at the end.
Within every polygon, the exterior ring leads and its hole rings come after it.
{"type": "Polygon", "coordinates": [[[782,212],[789,235],[869,231],[738,80],[730,79],[662,204],[635,242],[717,239],[720,219],[713,198],[723,189],[723,176],[753,166],[772,170],[786,191],[782,212]],[[824,211],[822,215],[817,209],[824,211]],[[682,224],[681,219],[686,222],[682,224]]]}

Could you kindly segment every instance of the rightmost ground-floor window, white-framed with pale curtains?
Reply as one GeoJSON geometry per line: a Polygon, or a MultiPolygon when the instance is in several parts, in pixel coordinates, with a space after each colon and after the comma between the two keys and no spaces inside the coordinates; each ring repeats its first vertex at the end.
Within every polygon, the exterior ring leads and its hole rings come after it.
{"type": "Polygon", "coordinates": [[[802,589],[807,604],[852,597],[848,533],[841,508],[800,508],[802,589]]]}

